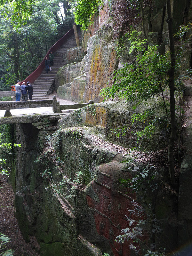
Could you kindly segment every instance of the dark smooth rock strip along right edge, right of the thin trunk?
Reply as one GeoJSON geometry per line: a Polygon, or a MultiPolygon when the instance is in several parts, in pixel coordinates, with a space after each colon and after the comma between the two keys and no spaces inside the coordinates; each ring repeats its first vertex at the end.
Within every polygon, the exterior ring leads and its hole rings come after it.
{"type": "MultiPolygon", "coordinates": [[[[191,241],[192,239],[192,81],[189,79],[184,82],[184,102],[185,102],[185,119],[183,124],[183,145],[186,152],[181,163],[180,178],[179,178],[179,196],[178,196],[178,244],[179,246],[191,241]]],[[[186,248],[184,248],[184,251],[186,248]]],[[[188,249],[191,252],[191,246],[188,249]]]]}

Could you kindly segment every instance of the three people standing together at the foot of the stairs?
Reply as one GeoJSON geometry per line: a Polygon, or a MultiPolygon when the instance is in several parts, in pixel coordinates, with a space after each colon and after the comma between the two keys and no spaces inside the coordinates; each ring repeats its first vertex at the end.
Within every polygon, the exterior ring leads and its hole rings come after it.
{"type": "Polygon", "coordinates": [[[15,94],[16,94],[16,101],[20,101],[20,99],[28,100],[33,100],[32,95],[33,95],[33,86],[31,85],[30,82],[27,82],[27,85],[25,85],[25,82],[23,82],[22,85],[19,84],[20,81],[17,80],[17,84],[15,84],[15,94]]]}

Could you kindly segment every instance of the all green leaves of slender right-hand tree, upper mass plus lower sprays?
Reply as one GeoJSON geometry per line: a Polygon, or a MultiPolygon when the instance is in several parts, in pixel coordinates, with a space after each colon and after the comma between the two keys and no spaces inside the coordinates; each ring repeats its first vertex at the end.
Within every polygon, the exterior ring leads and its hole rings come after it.
{"type": "MultiPolygon", "coordinates": [[[[126,35],[127,36],[127,35],[126,35]]],[[[125,63],[119,68],[115,75],[115,83],[112,87],[102,89],[101,95],[108,98],[118,97],[126,101],[133,102],[133,109],[141,103],[144,104],[150,99],[154,99],[153,106],[147,106],[147,110],[132,116],[132,124],[137,121],[145,124],[142,131],[137,131],[138,140],[151,135],[160,126],[164,129],[168,141],[170,103],[164,94],[168,87],[167,76],[170,68],[170,52],[161,55],[156,45],[148,45],[147,39],[140,39],[140,33],[132,31],[129,37],[129,53],[135,57],[132,64],[125,63]],[[158,114],[158,116],[157,116],[158,114]]],[[[118,54],[124,49],[123,41],[118,45],[118,54]]],[[[179,62],[176,62],[176,71],[179,69],[179,62]]],[[[180,88],[179,83],[175,83],[175,89],[180,88]]],[[[124,132],[126,127],[124,127],[124,132]]],[[[117,133],[118,134],[118,133],[117,133]]]]}

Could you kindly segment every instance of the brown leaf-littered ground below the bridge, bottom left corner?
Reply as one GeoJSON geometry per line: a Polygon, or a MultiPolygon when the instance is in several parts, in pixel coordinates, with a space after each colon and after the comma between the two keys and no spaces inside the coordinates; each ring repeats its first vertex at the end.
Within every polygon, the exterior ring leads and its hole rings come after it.
{"type": "Polygon", "coordinates": [[[7,249],[15,250],[16,256],[37,256],[37,252],[31,248],[31,244],[37,246],[35,237],[32,237],[32,242],[27,244],[14,216],[14,193],[11,185],[0,179],[0,188],[0,232],[11,238],[7,243],[7,249]]]}

